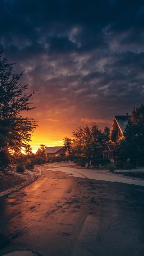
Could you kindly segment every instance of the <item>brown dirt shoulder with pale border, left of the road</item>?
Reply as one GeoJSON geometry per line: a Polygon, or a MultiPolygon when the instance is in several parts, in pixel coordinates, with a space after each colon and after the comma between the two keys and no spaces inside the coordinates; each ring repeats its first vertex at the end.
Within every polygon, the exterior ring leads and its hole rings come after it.
{"type": "Polygon", "coordinates": [[[0,172],[0,197],[21,189],[35,181],[41,175],[39,169],[32,171],[25,170],[23,173],[7,171],[6,174],[0,172]]]}

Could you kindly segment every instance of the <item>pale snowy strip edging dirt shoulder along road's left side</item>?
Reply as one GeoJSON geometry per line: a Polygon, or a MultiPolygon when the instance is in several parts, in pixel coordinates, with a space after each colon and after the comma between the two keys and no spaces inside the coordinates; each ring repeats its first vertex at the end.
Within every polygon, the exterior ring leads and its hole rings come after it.
{"type": "MultiPolygon", "coordinates": [[[[39,170],[39,169],[33,169],[33,171],[24,170],[23,174],[14,172],[14,171],[8,171],[7,174],[8,174],[7,176],[14,175],[15,179],[17,179],[17,177],[21,177],[21,178],[25,179],[25,181],[22,182],[21,184],[14,186],[14,187],[4,190],[3,192],[0,193],[0,197],[3,197],[11,192],[16,191],[16,190],[19,190],[19,189],[27,186],[28,184],[32,183],[41,175],[41,170],[39,170]]],[[[3,174],[1,176],[4,177],[3,174]]]]}

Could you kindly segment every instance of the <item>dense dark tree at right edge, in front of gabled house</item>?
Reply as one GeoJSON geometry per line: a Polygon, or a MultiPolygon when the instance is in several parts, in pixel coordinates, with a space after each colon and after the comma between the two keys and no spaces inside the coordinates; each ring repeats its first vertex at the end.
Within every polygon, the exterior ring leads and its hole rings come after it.
{"type": "Polygon", "coordinates": [[[121,142],[120,155],[131,162],[144,163],[144,104],[132,111],[124,132],[125,139],[121,142]]]}

